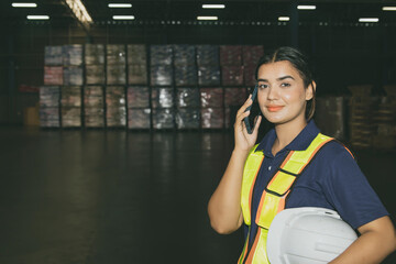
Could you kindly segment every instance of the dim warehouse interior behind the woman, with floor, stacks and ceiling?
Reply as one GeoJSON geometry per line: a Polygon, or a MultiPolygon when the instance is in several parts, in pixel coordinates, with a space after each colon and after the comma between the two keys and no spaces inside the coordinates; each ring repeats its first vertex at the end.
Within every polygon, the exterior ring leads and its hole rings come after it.
{"type": "Polygon", "coordinates": [[[207,202],[279,46],[396,223],[395,0],[23,2],[0,3],[0,263],[235,263],[207,202]]]}

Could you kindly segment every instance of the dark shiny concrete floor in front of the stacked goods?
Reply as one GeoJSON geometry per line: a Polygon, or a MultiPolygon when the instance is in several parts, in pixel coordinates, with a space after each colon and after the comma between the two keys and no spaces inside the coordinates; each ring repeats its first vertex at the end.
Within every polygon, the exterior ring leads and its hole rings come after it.
{"type": "MultiPolygon", "coordinates": [[[[242,231],[216,234],[206,212],[232,145],[220,132],[1,127],[0,263],[237,263],[242,231]]],[[[356,156],[394,213],[396,153],[356,156]]]]}

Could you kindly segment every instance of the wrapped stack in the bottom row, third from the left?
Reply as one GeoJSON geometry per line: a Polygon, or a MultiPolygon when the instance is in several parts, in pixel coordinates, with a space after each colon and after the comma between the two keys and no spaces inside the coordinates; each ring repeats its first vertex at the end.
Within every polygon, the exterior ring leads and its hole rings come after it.
{"type": "Polygon", "coordinates": [[[84,88],[84,123],[86,128],[105,127],[103,87],[84,88]]]}

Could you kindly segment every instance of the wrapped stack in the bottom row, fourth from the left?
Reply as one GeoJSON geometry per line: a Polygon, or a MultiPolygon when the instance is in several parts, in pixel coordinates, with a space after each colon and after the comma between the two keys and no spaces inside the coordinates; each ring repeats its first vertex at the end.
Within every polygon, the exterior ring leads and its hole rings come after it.
{"type": "Polygon", "coordinates": [[[127,124],[123,86],[108,86],[106,89],[106,122],[109,128],[121,128],[127,124]]]}

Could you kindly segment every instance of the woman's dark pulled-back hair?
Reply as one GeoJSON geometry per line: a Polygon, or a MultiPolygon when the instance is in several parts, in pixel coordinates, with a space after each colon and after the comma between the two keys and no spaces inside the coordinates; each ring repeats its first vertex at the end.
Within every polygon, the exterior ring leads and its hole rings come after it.
{"type": "MultiPolygon", "coordinates": [[[[309,67],[308,57],[295,47],[279,47],[271,53],[265,53],[258,61],[257,67],[255,70],[255,78],[258,78],[258,69],[264,64],[271,64],[276,62],[287,61],[289,62],[300,74],[300,77],[304,81],[305,88],[308,88],[309,85],[312,85],[314,77],[312,72],[309,67]]],[[[315,113],[316,106],[316,95],[315,89],[312,89],[312,99],[307,102],[306,118],[310,120],[315,113]],[[309,109],[309,110],[308,110],[309,109]]]]}

